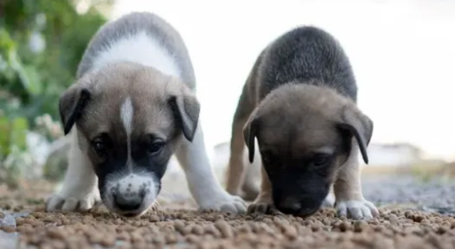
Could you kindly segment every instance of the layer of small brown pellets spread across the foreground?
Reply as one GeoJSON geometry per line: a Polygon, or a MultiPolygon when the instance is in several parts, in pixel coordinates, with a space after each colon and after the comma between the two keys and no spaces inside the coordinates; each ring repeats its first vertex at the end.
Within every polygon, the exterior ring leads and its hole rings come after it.
{"type": "Polygon", "coordinates": [[[455,218],[437,213],[380,210],[370,221],[336,218],[323,209],[309,218],[235,216],[188,210],[122,218],[90,213],[35,211],[16,218],[19,248],[455,248],[455,218]]]}

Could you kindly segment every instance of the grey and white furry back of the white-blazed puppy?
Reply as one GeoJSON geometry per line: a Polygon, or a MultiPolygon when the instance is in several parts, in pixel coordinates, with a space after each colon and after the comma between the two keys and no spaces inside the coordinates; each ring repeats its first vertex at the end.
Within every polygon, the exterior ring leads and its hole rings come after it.
{"type": "Polygon", "coordinates": [[[196,88],[193,65],[183,39],[156,14],[133,12],[105,23],[82,55],[76,77],[100,68],[102,56],[102,65],[122,60],[156,65],[163,73],[181,78],[189,88],[196,88]]]}

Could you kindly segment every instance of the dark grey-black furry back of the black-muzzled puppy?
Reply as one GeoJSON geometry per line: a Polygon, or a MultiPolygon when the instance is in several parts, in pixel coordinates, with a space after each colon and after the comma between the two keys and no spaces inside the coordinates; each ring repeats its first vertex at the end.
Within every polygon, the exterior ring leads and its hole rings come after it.
{"type": "Polygon", "coordinates": [[[258,58],[258,95],[286,83],[325,85],[357,100],[357,86],[348,56],[330,33],[314,26],[294,28],[272,42],[258,58]]]}

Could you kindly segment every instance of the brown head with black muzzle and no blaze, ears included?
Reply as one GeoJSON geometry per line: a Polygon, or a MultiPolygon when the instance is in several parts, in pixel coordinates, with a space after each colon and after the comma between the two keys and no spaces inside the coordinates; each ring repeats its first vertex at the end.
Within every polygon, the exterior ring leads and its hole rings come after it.
{"type": "Polygon", "coordinates": [[[262,100],[243,132],[250,162],[257,139],[274,205],[283,213],[310,216],[348,159],[353,137],[368,163],[373,122],[334,90],[289,84],[262,100]]]}

